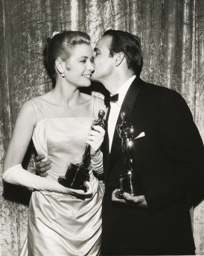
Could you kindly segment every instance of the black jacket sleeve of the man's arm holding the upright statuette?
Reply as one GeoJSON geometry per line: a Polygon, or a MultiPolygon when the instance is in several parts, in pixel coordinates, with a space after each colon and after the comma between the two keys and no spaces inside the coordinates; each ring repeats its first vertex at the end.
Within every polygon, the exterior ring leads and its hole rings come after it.
{"type": "Polygon", "coordinates": [[[172,167],[146,192],[153,214],[185,200],[204,181],[204,147],[185,100],[175,91],[163,94],[157,105],[157,137],[172,167]]]}

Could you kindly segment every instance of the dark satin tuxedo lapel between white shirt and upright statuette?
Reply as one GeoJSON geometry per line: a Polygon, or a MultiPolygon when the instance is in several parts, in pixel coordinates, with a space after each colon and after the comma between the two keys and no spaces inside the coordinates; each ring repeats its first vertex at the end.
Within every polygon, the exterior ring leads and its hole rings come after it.
{"type": "MultiPolygon", "coordinates": [[[[126,112],[127,115],[128,115],[128,118],[130,119],[132,109],[133,109],[133,106],[135,104],[137,95],[140,91],[140,88],[142,86],[142,83],[144,83],[144,82],[140,78],[135,78],[135,80],[130,85],[130,87],[127,91],[127,94],[124,98],[124,101],[122,103],[120,113],[119,113],[119,116],[118,116],[118,119],[117,119],[116,127],[117,127],[118,124],[120,124],[122,122],[121,116],[120,116],[122,112],[126,112]]],[[[112,169],[112,166],[113,166],[120,150],[122,150],[122,144],[121,144],[122,141],[119,138],[116,127],[115,127],[115,131],[114,131],[114,135],[113,135],[113,142],[112,142],[111,152],[110,152],[110,156],[109,156],[109,165],[107,166],[108,171],[110,171],[112,169]]]]}

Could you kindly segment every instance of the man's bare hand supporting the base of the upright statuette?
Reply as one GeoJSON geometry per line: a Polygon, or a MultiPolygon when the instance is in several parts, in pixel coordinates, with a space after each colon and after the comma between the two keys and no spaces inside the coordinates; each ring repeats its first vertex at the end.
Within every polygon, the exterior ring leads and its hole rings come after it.
{"type": "Polygon", "coordinates": [[[144,196],[132,196],[127,192],[123,193],[124,199],[119,199],[116,197],[116,192],[120,191],[120,189],[115,189],[112,192],[112,201],[120,202],[120,203],[131,203],[136,204],[138,207],[141,208],[148,208],[147,202],[144,196]]]}

